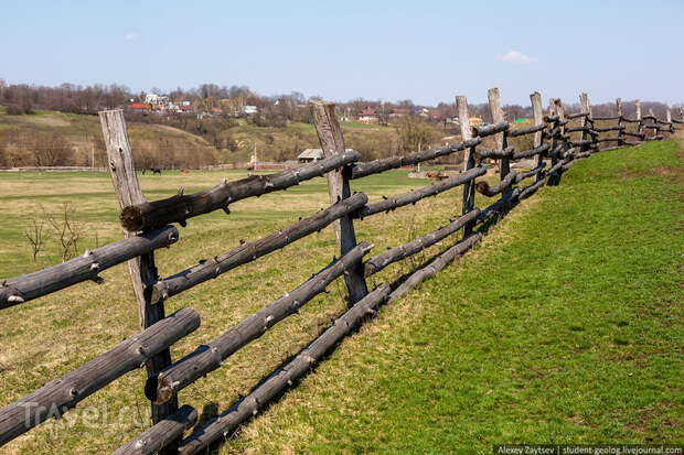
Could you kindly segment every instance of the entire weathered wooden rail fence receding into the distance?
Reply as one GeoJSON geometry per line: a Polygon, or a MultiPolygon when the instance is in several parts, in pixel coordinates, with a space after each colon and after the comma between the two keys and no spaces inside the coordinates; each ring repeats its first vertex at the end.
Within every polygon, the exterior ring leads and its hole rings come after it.
{"type": "Polygon", "coordinates": [[[591,116],[587,94],[579,97],[579,112],[566,113],[560,100],[553,98],[544,112],[542,97],[535,91],[530,96],[534,124],[513,129],[513,126],[505,121],[501,109],[499,89],[490,89],[488,98],[493,122],[471,127],[468,120],[468,101],[464,96],[457,96],[461,142],[370,162],[360,162],[356,152],[345,152],[334,105],[312,101],[312,117],[324,151],[322,160],[276,174],[254,175],[234,182],[224,180],[213,188],[196,194],[184,195],[181,188],[173,197],[153,202],[146,201],[140,191],[122,111],[100,112],[109,172],[121,207],[120,221],[126,229],[126,238],[93,251],[86,250],[83,256],[62,264],[1,280],[0,308],[19,305],[86,280],[99,282],[100,271],[127,261],[138,302],[141,332],[74,371],[0,409],[0,445],[39,425],[50,416],[49,410],[56,407],[60,413],[66,412],[126,372],[146,365],[148,380],[145,394],[150,400],[153,426],[115,453],[202,452],[214,441],[229,435],[304,375],[380,305],[398,299],[468,251],[484,235],[485,229],[478,229],[478,226],[493,219],[494,215],[505,213],[543,185],[557,185],[563,173],[577,160],[601,151],[661,140],[665,134],[674,132],[675,123],[684,123],[682,111],[681,120],[673,119],[670,111],[665,120],[655,118],[653,112],[642,116],[639,101],[637,118],[624,118],[620,98],[616,101],[614,116],[595,118],[591,116]],[[509,145],[510,138],[527,134],[534,136],[532,148],[515,150],[509,145]],[[494,139],[494,149],[478,149],[482,145],[483,138],[490,136],[494,139]],[[351,191],[353,180],[458,151],[464,151],[462,172],[439,183],[371,203],[365,194],[351,191]],[[499,160],[499,183],[477,182],[477,178],[487,172],[484,162],[492,159],[499,160]],[[522,159],[533,159],[531,169],[512,171],[511,164],[522,159]],[[328,208],[261,239],[218,253],[213,260],[192,266],[165,279],[158,277],[154,250],[179,241],[179,230],[172,226],[173,223],[184,227],[189,218],[217,209],[229,214],[229,205],[234,202],[286,189],[322,175],[328,177],[328,208]],[[528,178],[532,181],[525,186],[515,186],[528,178]],[[461,185],[462,215],[458,219],[450,220],[436,231],[425,234],[406,245],[396,246],[364,260],[373,246],[357,243],[355,228],[365,217],[388,213],[461,185]],[[492,204],[479,208],[474,206],[475,192],[488,197],[501,196],[492,204]],[[192,308],[181,308],[165,315],[163,302],[167,299],[284,248],[331,224],[335,232],[339,259],[277,301],[218,334],[206,345],[199,346],[175,361],[171,359],[169,346],[199,328],[200,315],[192,308]],[[368,291],[365,281],[367,277],[453,236],[459,230],[463,232],[462,239],[426,267],[415,270],[394,286],[383,283],[368,291]],[[340,277],[344,277],[349,291],[349,310],[247,397],[218,416],[193,429],[197,412],[189,405],[179,408],[178,392],[218,368],[225,358],[260,337],[275,324],[297,313],[316,295],[325,292],[327,286],[340,277]],[[188,431],[191,433],[185,436],[188,431]]]}

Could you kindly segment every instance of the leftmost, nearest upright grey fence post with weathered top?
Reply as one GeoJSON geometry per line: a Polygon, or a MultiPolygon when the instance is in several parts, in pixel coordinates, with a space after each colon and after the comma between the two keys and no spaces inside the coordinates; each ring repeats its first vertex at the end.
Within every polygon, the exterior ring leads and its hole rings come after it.
{"type": "MultiPolygon", "coordinates": [[[[119,202],[119,207],[142,204],[146,202],[138,176],[133,155],[128,142],[126,120],[124,111],[120,109],[105,110],[99,112],[99,121],[103,128],[103,136],[107,149],[107,162],[114,191],[119,202]]],[[[125,231],[125,237],[131,237],[135,232],[125,231]]],[[[128,261],[128,274],[133,286],[136,301],[138,304],[138,319],[140,328],[145,329],[158,321],[164,318],[164,304],[162,302],[151,304],[148,286],[153,285],[159,277],[154,266],[154,253],[149,252],[139,258],[128,261]]],[[[163,368],[171,365],[171,353],[169,348],[162,350],[146,362],[148,377],[157,375],[163,368]]],[[[152,404],[152,422],[157,423],[178,410],[178,399],[174,398],[164,404],[152,404]]],[[[175,453],[178,445],[171,444],[164,454],[175,453]]]]}

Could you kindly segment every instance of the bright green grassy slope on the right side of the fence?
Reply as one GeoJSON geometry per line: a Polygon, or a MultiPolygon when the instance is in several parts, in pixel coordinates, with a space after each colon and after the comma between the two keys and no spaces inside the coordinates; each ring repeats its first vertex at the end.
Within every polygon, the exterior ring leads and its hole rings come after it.
{"type": "Polygon", "coordinates": [[[673,145],[576,164],[229,445],[488,453],[503,442],[682,442],[684,155],[673,145]]]}

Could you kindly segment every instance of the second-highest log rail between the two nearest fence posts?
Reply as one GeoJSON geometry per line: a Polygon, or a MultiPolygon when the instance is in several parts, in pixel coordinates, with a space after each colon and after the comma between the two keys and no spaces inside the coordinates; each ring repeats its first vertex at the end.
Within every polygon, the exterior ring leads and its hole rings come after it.
{"type": "Polygon", "coordinates": [[[161,302],[236,267],[252,262],[264,254],[284,248],[310,234],[323,229],[335,219],[354,214],[368,202],[363,193],[353,194],[331,205],[316,215],[295,223],[277,232],[258,240],[243,243],[237,248],[215,256],[213,259],[185,269],[152,285],[151,302],[161,302]]]}

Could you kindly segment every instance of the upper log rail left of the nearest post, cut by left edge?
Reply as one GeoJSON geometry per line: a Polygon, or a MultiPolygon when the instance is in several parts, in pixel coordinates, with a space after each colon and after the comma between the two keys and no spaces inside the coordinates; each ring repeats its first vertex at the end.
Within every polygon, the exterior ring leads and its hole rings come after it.
{"type": "Polygon", "coordinates": [[[0,308],[18,305],[83,281],[101,282],[98,273],[129,259],[146,254],[178,241],[178,229],[167,226],[129,237],[61,264],[0,281],[0,308]]]}

